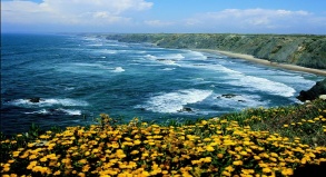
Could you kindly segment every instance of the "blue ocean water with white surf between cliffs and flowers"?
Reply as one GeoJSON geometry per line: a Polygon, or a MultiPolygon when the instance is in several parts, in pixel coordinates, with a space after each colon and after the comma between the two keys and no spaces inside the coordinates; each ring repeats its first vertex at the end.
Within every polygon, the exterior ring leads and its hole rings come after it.
{"type": "Polygon", "coordinates": [[[101,112],[126,121],[210,118],[298,102],[298,92],[320,79],[148,43],[78,35],[2,35],[1,131],[23,132],[31,122],[45,129],[89,125],[101,112]],[[228,94],[234,97],[224,97],[228,94]]]}

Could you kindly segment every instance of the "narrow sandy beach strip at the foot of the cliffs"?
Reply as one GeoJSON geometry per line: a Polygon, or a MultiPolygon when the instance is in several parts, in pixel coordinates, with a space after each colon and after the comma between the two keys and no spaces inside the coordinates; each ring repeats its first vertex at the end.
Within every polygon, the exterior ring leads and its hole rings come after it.
{"type": "Polygon", "coordinates": [[[208,53],[214,53],[214,55],[224,55],[228,57],[234,57],[234,58],[239,58],[244,59],[247,61],[269,66],[269,67],[276,67],[276,68],[283,68],[283,69],[288,69],[288,70],[294,70],[294,71],[303,71],[303,72],[309,72],[309,73],[315,73],[319,76],[326,76],[326,70],[320,70],[320,69],[314,69],[314,68],[307,68],[307,67],[300,67],[296,65],[290,65],[290,63],[279,63],[279,62],[271,62],[265,59],[259,59],[250,55],[244,55],[244,53],[236,53],[231,51],[224,51],[224,50],[215,50],[215,49],[190,49],[194,51],[200,51],[200,52],[208,52],[208,53]]]}

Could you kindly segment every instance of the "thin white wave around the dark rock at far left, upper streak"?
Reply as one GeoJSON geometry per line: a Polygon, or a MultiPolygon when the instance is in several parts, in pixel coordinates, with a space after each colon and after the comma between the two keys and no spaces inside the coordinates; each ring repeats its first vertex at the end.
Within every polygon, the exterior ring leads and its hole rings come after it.
{"type": "Polygon", "coordinates": [[[8,102],[9,105],[13,105],[13,106],[19,106],[19,107],[49,107],[49,106],[55,106],[55,105],[59,105],[59,106],[88,106],[87,101],[82,101],[82,100],[75,100],[75,99],[69,99],[69,98],[65,98],[65,99],[55,99],[55,98],[50,98],[50,99],[40,99],[39,102],[31,102],[29,99],[16,99],[12,101],[8,102]]]}

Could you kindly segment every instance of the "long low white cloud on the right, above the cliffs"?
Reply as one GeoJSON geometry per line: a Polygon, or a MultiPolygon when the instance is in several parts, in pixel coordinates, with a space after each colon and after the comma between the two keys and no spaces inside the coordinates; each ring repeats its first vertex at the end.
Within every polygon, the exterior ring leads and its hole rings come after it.
{"type": "MultiPolygon", "coordinates": [[[[312,23],[316,20],[307,11],[271,9],[226,9],[218,12],[196,14],[186,20],[187,26],[227,26],[234,29],[285,29],[312,23]]],[[[323,20],[325,21],[325,19],[323,20]]]]}

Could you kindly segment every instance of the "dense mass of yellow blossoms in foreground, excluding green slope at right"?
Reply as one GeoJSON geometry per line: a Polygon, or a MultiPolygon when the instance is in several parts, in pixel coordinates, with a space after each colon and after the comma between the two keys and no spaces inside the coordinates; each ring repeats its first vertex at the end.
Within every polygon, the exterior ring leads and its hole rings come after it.
{"type": "Polygon", "coordinates": [[[219,118],[180,127],[134,119],[129,125],[47,131],[10,156],[1,161],[3,177],[290,176],[295,167],[326,161],[326,147],[219,118]]]}

